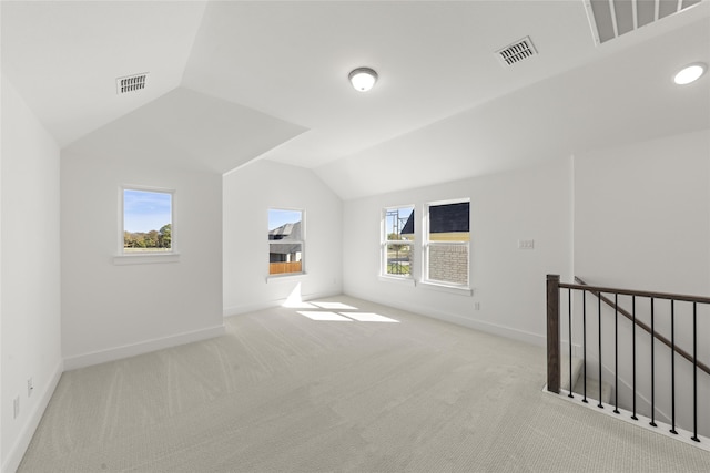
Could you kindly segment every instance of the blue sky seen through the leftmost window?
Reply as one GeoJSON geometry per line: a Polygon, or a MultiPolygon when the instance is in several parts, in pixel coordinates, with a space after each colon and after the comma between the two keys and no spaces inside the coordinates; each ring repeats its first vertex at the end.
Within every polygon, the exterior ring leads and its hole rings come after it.
{"type": "Polygon", "coordinates": [[[172,194],[123,191],[123,229],[125,232],[160,230],[166,224],[172,224],[172,194]]]}

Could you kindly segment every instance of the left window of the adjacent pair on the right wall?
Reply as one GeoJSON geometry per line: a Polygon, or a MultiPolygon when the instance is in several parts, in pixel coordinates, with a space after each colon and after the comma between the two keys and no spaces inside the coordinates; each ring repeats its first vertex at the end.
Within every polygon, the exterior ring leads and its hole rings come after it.
{"type": "Polygon", "coordinates": [[[383,276],[412,277],[414,261],[414,206],[385,208],[383,276]]]}

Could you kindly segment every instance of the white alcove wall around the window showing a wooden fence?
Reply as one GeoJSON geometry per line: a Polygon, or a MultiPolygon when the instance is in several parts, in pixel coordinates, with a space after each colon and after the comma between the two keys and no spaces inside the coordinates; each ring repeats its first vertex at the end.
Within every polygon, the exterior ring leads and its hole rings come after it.
{"type": "Polygon", "coordinates": [[[224,313],[342,290],[343,204],[312,171],[258,161],[224,176],[224,313]],[[268,275],[268,208],[305,210],[303,276],[268,275]]]}

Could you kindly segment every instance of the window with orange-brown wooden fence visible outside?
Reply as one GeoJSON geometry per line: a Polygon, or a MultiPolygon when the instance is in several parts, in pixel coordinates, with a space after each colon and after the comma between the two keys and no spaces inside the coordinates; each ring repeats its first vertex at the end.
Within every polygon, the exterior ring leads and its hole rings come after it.
{"type": "Polygon", "coordinates": [[[268,209],[268,274],[304,273],[303,210],[268,209]]]}

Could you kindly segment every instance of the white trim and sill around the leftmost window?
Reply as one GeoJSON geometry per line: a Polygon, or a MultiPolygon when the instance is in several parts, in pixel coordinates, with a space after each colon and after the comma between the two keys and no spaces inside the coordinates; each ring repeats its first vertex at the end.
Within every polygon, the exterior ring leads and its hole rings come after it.
{"type": "Polygon", "coordinates": [[[118,235],[118,254],[113,257],[114,265],[144,265],[144,264],[160,264],[160,263],[178,263],[180,260],[180,254],[178,253],[178,240],[175,236],[178,235],[176,224],[175,224],[175,189],[173,188],[164,188],[164,187],[154,187],[154,186],[144,186],[144,185],[133,185],[133,184],[122,184],[119,186],[119,235],[118,235]],[[124,199],[124,191],[143,191],[143,192],[154,192],[154,193],[163,193],[170,194],[170,228],[171,228],[171,244],[170,251],[143,251],[143,253],[125,253],[123,248],[123,233],[124,233],[124,208],[123,208],[123,199],[124,199]]]}

